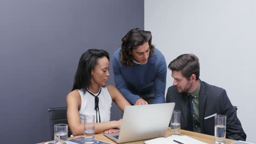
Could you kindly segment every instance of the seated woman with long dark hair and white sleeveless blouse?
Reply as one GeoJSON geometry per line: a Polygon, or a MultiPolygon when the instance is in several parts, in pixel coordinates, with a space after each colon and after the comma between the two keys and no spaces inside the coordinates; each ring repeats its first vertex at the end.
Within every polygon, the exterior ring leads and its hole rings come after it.
{"type": "Polygon", "coordinates": [[[130,105],[108,82],[109,56],[104,50],[90,49],[80,58],[72,92],[67,95],[67,119],[72,134],[84,135],[84,115],[95,115],[95,133],[117,133],[122,119],[110,121],[112,100],[124,111],[130,105]]]}

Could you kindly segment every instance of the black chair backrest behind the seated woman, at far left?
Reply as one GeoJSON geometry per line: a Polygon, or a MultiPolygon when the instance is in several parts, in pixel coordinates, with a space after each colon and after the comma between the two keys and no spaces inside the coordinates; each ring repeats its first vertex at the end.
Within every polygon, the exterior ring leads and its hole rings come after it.
{"type": "MultiPolygon", "coordinates": [[[[48,109],[50,114],[50,130],[51,140],[54,140],[54,125],[55,124],[68,124],[67,122],[67,107],[55,107],[48,109]]],[[[68,137],[71,135],[71,130],[68,127],[68,137]]]]}

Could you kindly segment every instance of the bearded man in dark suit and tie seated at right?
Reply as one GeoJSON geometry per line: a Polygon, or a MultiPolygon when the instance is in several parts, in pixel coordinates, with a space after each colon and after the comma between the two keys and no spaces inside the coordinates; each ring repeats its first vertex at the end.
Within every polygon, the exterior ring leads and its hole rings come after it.
{"type": "Polygon", "coordinates": [[[181,111],[181,129],[214,136],[214,117],[204,118],[217,113],[226,116],[226,138],[246,140],[225,89],[199,79],[200,64],[195,55],[178,56],[168,68],[174,80],[173,86],[168,88],[166,103],[174,102],[174,110],[181,111]]]}

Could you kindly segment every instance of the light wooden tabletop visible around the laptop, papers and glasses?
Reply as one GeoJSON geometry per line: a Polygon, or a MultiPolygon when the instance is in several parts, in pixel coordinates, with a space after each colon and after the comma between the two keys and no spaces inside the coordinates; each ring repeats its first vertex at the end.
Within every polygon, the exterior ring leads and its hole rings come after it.
{"type": "MultiPolygon", "coordinates": [[[[205,134],[200,134],[200,133],[195,133],[195,132],[191,132],[191,131],[187,131],[187,130],[181,130],[181,135],[187,135],[189,137],[192,137],[193,139],[202,141],[202,142],[206,142],[209,144],[214,144],[214,136],[212,135],[205,135],[205,134]]],[[[165,135],[165,137],[171,136],[171,128],[169,127],[167,130],[167,133],[165,135]]],[[[75,137],[80,137],[80,136],[74,136],[74,137],[68,137],[68,139],[74,139],[75,137]]],[[[108,137],[104,136],[103,134],[96,134],[95,135],[95,139],[97,140],[101,140],[101,141],[106,141],[106,142],[110,142],[110,143],[115,143],[114,141],[108,139],[108,137]]],[[[143,144],[144,141],[146,140],[142,140],[142,141],[133,141],[133,142],[127,142],[127,144],[143,144]]],[[[50,141],[50,142],[54,142],[54,141],[50,141]]],[[[226,139],[226,144],[235,142],[235,140],[230,140],[230,139],[226,139]]],[[[38,144],[43,144],[45,142],[42,143],[38,143],[38,144]]]]}

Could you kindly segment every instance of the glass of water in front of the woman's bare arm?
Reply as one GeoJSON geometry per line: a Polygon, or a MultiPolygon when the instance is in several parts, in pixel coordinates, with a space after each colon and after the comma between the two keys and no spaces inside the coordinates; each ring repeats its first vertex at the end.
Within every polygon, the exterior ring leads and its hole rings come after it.
{"type": "Polygon", "coordinates": [[[95,135],[95,116],[84,116],[84,141],[85,143],[94,143],[95,135]]]}

